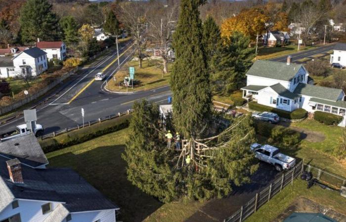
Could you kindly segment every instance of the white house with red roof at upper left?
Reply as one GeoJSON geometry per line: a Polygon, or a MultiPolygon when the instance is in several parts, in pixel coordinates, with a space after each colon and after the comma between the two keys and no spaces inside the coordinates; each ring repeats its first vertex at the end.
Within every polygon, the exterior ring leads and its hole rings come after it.
{"type": "Polygon", "coordinates": [[[48,60],[66,59],[66,44],[63,41],[40,41],[38,38],[36,46],[47,53],[48,60]]]}

